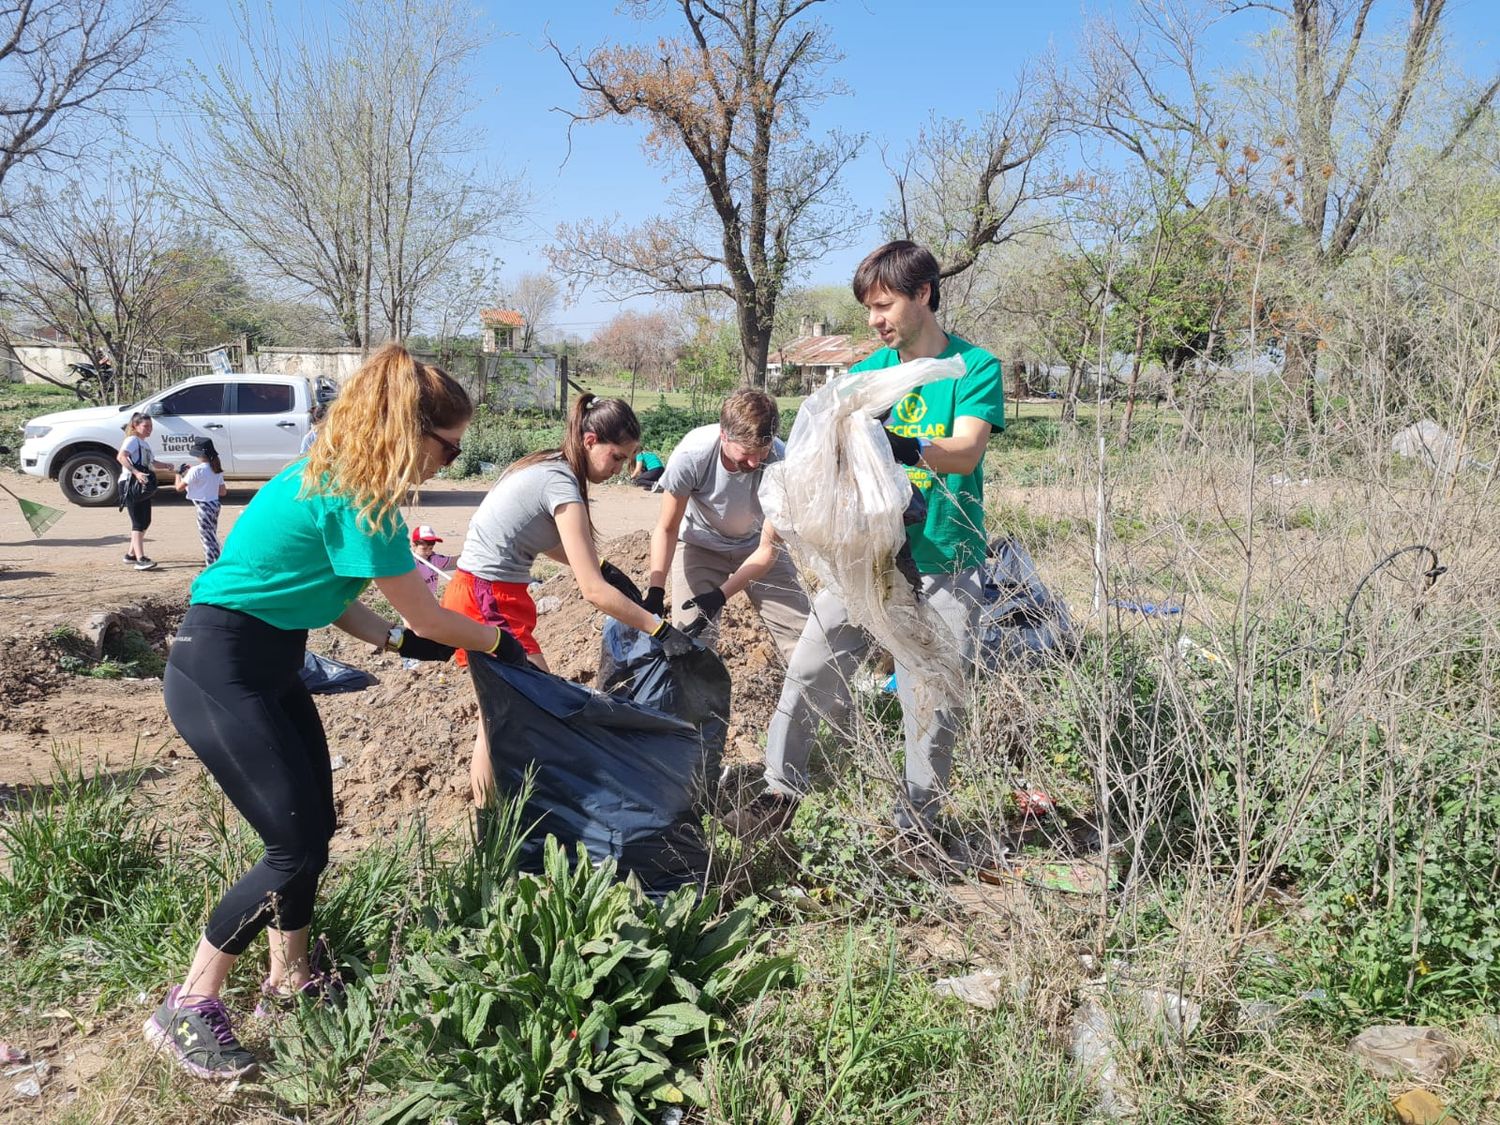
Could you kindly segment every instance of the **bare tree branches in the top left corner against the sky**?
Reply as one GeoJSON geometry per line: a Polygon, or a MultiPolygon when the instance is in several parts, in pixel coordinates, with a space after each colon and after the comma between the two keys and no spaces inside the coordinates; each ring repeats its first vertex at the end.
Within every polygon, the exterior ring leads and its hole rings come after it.
{"type": "Polygon", "coordinates": [[[158,84],[176,0],[0,3],[0,184],[18,165],[76,160],[84,123],[158,84]]]}

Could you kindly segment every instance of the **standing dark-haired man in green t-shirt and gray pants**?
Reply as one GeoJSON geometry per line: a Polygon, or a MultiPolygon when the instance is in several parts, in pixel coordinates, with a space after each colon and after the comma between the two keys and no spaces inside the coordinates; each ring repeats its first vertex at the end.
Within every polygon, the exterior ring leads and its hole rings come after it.
{"type": "MultiPolygon", "coordinates": [[[[982,348],[938,324],[938,261],[910,242],[879,248],[854,274],[854,294],[870,310],[884,348],[850,370],[878,370],[909,360],[958,356],[964,375],[916,387],[896,404],[886,423],[891,456],[906,466],[927,500],[927,518],[908,528],[906,542],[922,602],[952,634],[964,662],[974,656],[975,618],[982,600],[986,555],[984,450],[1005,426],[1000,364],[982,348]]],[[[807,759],[819,718],[838,729],[849,712],[849,678],[870,646],[849,622],[838,596],[822,591],[786,670],[786,684],[766,734],[766,792],[734,818],[753,832],[784,826],[807,790],[807,759]]],[[[934,831],[952,766],[962,711],[920,716],[912,676],[897,668],[906,734],[906,790],[896,806],[902,830],[934,831]]]]}

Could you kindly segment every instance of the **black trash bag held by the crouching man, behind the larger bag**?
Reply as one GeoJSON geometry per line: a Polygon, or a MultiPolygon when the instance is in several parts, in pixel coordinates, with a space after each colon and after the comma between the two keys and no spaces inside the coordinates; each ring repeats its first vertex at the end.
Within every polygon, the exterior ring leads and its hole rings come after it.
{"type": "Polygon", "coordinates": [[[704,740],[704,798],[718,786],[729,735],[729,669],[712,650],[696,645],[669,660],[662,642],[610,618],[598,654],[598,687],[642,706],[692,723],[704,740]]]}

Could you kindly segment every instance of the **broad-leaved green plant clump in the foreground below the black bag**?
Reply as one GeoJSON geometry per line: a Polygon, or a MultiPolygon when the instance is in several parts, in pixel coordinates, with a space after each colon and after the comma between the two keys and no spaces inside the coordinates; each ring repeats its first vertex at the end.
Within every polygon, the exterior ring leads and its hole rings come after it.
{"type": "Polygon", "coordinates": [[[357,970],[348,1005],[273,1036],[278,1092],[342,1104],[364,1089],[387,1098],[376,1122],[632,1120],[705,1102],[696,1060],[792,969],[759,954],[753,902],[728,916],[694,888],[652,903],[555,842],[538,874],[518,873],[514,808],[495,842],[429,874],[420,921],[357,970]]]}

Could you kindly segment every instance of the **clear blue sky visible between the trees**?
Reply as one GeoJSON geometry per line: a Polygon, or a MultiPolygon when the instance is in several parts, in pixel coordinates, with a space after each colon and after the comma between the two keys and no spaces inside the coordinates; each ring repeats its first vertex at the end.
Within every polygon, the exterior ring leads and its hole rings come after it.
{"type": "MultiPolygon", "coordinates": [[[[338,12],[338,4],[326,0],[268,3],[285,24],[296,24],[303,10],[316,18],[336,18],[338,12]]],[[[189,4],[198,22],[183,36],[182,52],[207,62],[212,45],[222,42],[230,27],[214,0],[189,0],[189,4]]],[[[502,0],[478,4],[477,10],[496,38],[478,60],[474,123],[489,138],[486,158],[508,171],[524,171],[536,198],[531,214],[496,246],[504,273],[544,270],[543,248],[560,220],[616,213],[636,220],[658,213],[670,184],[642,153],[640,126],[610,122],[576,128],[568,154],[567,118],[554,112],[554,106],[576,106],[578,98],[546,48],[546,38],[550,34],[566,51],[586,52],[606,40],[651,40],[658,28],[675,32],[676,24],[666,20],[644,27],[616,14],[612,3],[596,0],[555,4],[502,0]]],[[[890,178],[880,165],[882,142],[902,150],[933,111],[976,118],[994,105],[998,92],[1008,87],[1024,60],[1048,50],[1066,60],[1088,20],[1107,14],[1110,6],[1076,0],[834,0],[813,10],[832,27],[844,52],[831,75],[850,90],[828,99],[813,124],[868,134],[864,153],[846,171],[844,183],[855,202],[873,213],[890,195],[890,178]]],[[[1400,0],[1380,0],[1376,18],[1386,30],[1396,30],[1408,6],[1400,0]]],[[[1260,27],[1254,14],[1221,24],[1212,40],[1215,62],[1233,62],[1244,40],[1260,27]]],[[[1488,75],[1500,66],[1496,0],[1450,0],[1449,34],[1468,74],[1488,75]]],[[[819,262],[808,280],[844,284],[878,238],[872,222],[854,246],[819,262]]],[[[585,292],[556,320],[564,330],[588,336],[620,308],[603,294],[585,292]]]]}

